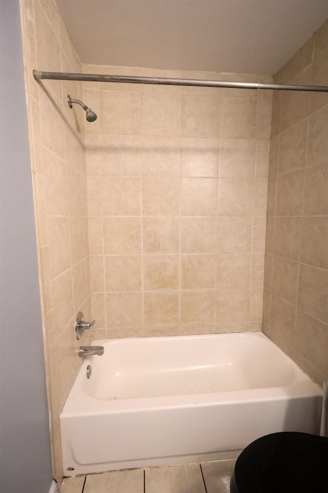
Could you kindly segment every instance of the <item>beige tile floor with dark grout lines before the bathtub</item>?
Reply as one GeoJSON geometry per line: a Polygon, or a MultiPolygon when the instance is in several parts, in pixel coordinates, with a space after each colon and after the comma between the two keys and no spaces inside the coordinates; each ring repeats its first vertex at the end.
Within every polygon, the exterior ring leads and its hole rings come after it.
{"type": "Polygon", "coordinates": [[[60,493],[229,493],[235,459],[65,478],[60,493]]]}

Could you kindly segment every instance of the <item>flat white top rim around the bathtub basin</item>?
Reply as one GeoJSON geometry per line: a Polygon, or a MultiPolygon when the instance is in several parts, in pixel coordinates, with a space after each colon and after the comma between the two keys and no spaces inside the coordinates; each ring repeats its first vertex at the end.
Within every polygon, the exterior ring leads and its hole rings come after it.
{"type": "MultiPolygon", "coordinates": [[[[218,391],[218,392],[204,392],[194,394],[173,394],[173,395],[161,395],[150,397],[131,397],[125,399],[99,399],[88,394],[84,388],[84,379],[86,378],[86,370],[88,365],[92,365],[93,358],[103,356],[86,356],[84,362],[81,365],[79,372],[76,376],[73,387],[67,397],[63,410],[60,413],[60,417],[69,416],[81,416],[86,414],[98,414],[104,413],[116,413],[116,412],[139,412],[148,409],[168,409],[168,408],[183,408],[190,406],[204,406],[204,405],[216,405],[220,403],[222,405],[234,404],[237,402],[263,402],[270,400],[284,400],[286,397],[292,399],[299,397],[314,397],[322,395],[321,387],[313,382],[309,375],[307,375],[298,365],[286,355],[269,337],[263,332],[234,332],[223,334],[204,334],[204,335],[179,335],[179,336],[159,336],[159,337],[129,337],[124,339],[94,339],[92,343],[94,345],[106,345],[106,343],[121,342],[124,340],[140,341],[144,339],[156,339],[160,340],[176,340],[178,339],[207,339],[218,338],[220,336],[228,337],[257,337],[265,341],[265,343],[273,344],[275,350],[282,354],[286,361],[292,365],[295,372],[294,380],[283,387],[259,387],[242,390],[232,391],[218,391]],[[83,405],[77,405],[77,403],[83,399],[83,405]]],[[[106,348],[105,348],[106,349],[106,348]]]]}

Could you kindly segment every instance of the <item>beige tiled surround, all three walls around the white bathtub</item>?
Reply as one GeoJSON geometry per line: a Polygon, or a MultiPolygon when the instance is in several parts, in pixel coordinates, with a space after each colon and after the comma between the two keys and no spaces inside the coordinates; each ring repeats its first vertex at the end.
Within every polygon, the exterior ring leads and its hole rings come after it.
{"type": "MultiPolygon", "coordinates": [[[[267,336],[321,386],[328,380],[327,94],[36,82],[33,69],[328,85],[328,21],[272,78],[82,65],[51,0],[22,0],[21,10],[58,482],[69,474],[60,414],[89,358],[78,356],[80,344],[235,333],[269,344],[267,336]],[[86,121],[68,94],[98,118],[86,121]],[[78,312],[96,320],[81,341],[78,312]]],[[[103,356],[92,357],[100,364],[103,356]]],[[[316,389],[310,394],[320,395],[316,389]]]]}

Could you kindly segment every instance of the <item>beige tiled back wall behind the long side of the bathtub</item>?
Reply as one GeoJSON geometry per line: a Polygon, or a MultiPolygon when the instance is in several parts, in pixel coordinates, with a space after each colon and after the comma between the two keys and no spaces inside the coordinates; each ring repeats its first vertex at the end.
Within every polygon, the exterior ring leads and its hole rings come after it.
{"type": "Polygon", "coordinates": [[[261,330],[271,91],[83,88],[99,115],[86,129],[93,336],[261,330]]]}

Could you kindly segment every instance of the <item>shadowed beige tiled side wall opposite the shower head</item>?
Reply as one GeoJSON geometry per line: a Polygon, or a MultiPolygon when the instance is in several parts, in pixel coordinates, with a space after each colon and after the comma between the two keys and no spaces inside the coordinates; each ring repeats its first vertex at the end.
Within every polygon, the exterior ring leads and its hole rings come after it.
{"type": "MultiPolygon", "coordinates": [[[[275,75],[328,86],[328,20],[275,75]]],[[[328,380],[328,94],[273,96],[263,331],[328,380]]]]}

